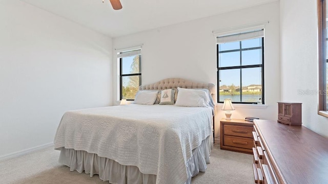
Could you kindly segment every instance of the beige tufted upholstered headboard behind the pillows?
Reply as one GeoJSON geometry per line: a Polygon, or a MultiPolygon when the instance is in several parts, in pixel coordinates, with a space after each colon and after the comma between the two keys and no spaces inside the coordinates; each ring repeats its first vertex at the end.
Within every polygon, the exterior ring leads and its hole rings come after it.
{"type": "MultiPolygon", "coordinates": [[[[190,81],[190,80],[181,79],[181,78],[168,78],[168,79],[163,79],[161,81],[158,81],[158,82],[155,82],[152,84],[141,85],[141,86],[139,86],[139,90],[162,90],[162,89],[170,89],[170,88],[177,88],[177,87],[189,88],[189,89],[192,89],[192,88],[209,89],[214,103],[216,104],[216,102],[217,102],[216,101],[215,84],[195,82],[195,81],[190,81]]],[[[216,114],[216,105],[214,106],[214,112],[216,114]]]]}

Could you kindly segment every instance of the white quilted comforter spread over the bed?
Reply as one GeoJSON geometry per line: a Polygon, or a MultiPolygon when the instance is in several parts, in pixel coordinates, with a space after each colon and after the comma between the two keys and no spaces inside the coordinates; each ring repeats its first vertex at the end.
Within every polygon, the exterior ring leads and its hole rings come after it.
{"type": "Polygon", "coordinates": [[[84,150],[157,175],[156,183],[184,183],[192,150],[212,134],[212,109],[121,105],[68,111],[55,149],[84,150]]]}

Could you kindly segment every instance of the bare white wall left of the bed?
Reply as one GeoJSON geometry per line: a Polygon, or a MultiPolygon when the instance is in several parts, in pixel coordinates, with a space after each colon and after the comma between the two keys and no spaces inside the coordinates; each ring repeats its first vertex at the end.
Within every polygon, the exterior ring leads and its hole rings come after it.
{"type": "Polygon", "coordinates": [[[67,110],[112,104],[112,39],[0,1],[0,158],[53,142],[67,110]]]}

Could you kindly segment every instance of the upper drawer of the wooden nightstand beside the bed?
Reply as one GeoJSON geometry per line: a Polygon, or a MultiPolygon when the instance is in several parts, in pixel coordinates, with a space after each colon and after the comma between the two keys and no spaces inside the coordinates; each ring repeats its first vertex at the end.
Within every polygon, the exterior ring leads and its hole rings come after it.
{"type": "Polygon", "coordinates": [[[253,138],[253,126],[224,125],[224,135],[234,135],[253,138]]]}

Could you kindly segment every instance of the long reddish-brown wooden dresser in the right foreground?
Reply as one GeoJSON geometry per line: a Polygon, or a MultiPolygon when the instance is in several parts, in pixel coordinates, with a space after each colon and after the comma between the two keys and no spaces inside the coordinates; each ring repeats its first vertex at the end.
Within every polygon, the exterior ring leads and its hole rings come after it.
{"type": "Polygon", "coordinates": [[[328,139],[304,126],[254,120],[255,183],[328,183],[328,139]]]}

